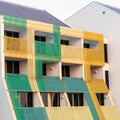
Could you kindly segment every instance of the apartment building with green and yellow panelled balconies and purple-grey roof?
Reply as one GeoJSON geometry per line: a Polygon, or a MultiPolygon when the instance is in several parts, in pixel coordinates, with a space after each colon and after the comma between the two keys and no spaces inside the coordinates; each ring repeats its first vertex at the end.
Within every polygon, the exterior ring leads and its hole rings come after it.
{"type": "Polygon", "coordinates": [[[0,5],[1,120],[120,120],[102,34],[71,29],[46,11],[0,5]]]}

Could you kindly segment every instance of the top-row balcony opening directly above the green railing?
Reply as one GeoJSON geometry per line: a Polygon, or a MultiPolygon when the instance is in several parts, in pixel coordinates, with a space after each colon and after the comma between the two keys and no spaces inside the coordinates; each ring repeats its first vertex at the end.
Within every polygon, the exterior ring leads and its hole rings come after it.
{"type": "Polygon", "coordinates": [[[34,39],[35,41],[38,42],[48,42],[48,43],[54,42],[53,33],[47,33],[42,31],[35,31],[34,39]]]}

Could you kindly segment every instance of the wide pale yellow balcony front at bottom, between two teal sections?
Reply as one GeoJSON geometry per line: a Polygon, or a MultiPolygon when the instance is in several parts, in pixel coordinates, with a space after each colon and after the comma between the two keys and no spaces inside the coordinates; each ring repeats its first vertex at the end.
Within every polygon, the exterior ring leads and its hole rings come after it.
{"type": "Polygon", "coordinates": [[[93,120],[89,107],[47,107],[51,120],[93,120]]]}

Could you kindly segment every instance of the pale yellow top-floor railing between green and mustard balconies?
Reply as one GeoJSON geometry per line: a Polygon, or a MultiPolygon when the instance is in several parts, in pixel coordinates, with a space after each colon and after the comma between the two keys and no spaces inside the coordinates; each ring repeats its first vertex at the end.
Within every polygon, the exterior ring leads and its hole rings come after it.
{"type": "Polygon", "coordinates": [[[83,49],[76,46],[61,45],[62,62],[66,63],[83,63],[83,49]]]}

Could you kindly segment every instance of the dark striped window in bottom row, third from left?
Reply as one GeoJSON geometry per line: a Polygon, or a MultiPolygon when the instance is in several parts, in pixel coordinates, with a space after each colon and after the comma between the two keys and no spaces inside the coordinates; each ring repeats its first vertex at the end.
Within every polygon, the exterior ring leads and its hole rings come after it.
{"type": "Polygon", "coordinates": [[[68,93],[71,106],[83,106],[83,93],[68,93]]]}

